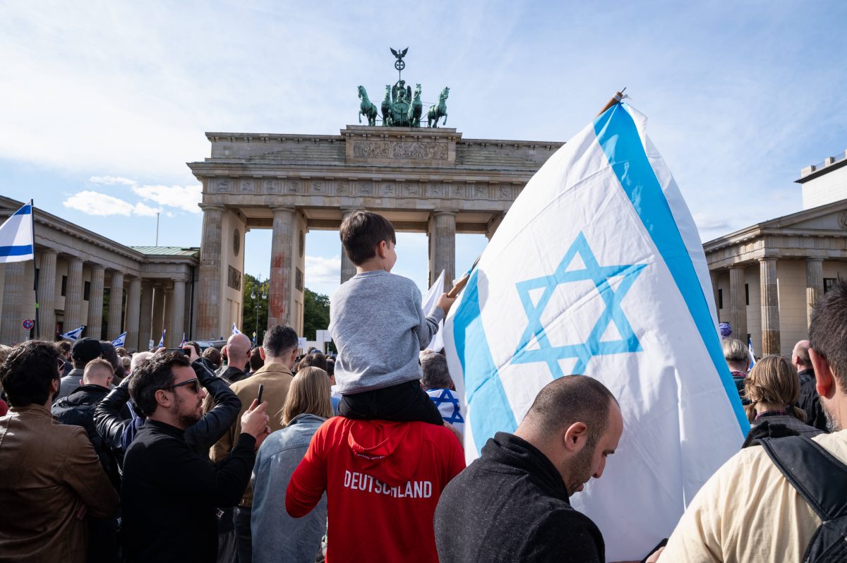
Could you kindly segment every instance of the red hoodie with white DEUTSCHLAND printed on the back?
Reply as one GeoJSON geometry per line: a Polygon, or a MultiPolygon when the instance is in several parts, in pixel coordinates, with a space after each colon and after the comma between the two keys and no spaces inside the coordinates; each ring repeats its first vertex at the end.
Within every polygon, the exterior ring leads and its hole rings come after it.
{"type": "Polygon", "coordinates": [[[447,428],[332,417],[291,476],[285,510],[305,516],[326,490],[327,563],[437,563],[435,505],[464,467],[447,428]]]}

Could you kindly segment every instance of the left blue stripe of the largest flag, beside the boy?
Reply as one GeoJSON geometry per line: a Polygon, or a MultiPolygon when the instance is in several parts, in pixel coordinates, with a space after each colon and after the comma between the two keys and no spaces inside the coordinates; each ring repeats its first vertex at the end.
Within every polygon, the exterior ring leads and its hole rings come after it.
{"type": "Polygon", "coordinates": [[[473,445],[479,454],[483,444],[476,440],[494,436],[497,432],[514,432],[518,422],[506,398],[506,390],[503,389],[500,373],[497,372],[485,337],[479,309],[478,273],[479,270],[473,270],[465,286],[462,304],[453,317],[453,339],[459,362],[462,362],[465,397],[468,405],[474,401],[479,409],[468,417],[474,437],[473,445]]]}

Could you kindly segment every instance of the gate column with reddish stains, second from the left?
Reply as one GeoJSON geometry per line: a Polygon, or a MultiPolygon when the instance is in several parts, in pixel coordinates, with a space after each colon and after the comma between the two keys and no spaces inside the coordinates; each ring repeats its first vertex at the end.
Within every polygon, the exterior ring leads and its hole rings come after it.
{"type": "Polygon", "coordinates": [[[273,207],[274,238],[270,247],[268,326],[291,323],[291,252],[295,249],[293,207],[273,207]]]}

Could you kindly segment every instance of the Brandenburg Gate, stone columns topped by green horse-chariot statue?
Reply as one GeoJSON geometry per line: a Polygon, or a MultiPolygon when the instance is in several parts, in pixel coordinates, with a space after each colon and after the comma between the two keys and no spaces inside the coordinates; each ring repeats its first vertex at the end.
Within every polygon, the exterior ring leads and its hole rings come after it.
{"type": "MultiPolygon", "coordinates": [[[[379,126],[359,86],[368,124],[348,125],[339,135],[207,133],[211,156],[188,164],[202,182],[197,338],[230,334],[241,319],[249,229],[274,231],[268,324],[287,323],[301,334],[310,229],[337,230],[358,209],[380,213],[398,231],[429,235],[429,283],[443,269],[449,284],[456,277],[456,234],[490,237],[523,186],[562,146],[463,139],[438,127],[440,116],[433,124],[433,109],[432,126],[420,126],[420,111],[418,119],[411,110],[405,119],[407,108],[420,103],[420,85],[412,97],[404,84],[385,87],[379,126]]],[[[441,92],[437,107],[445,108],[445,120],[448,92],[441,92]]],[[[343,283],[356,270],[343,249],[340,254],[343,283]]]]}

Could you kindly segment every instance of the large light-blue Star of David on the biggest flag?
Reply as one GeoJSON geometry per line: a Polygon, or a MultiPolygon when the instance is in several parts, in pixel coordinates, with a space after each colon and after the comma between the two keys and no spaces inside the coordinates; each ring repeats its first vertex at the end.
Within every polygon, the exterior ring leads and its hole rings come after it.
{"type": "Polygon", "coordinates": [[[554,273],[540,278],[528,279],[518,282],[518,294],[520,295],[523,308],[529,320],[527,328],[523,331],[518,350],[512,356],[513,363],[545,362],[550,368],[554,378],[561,378],[562,367],[559,360],[562,358],[577,358],[573,367],[573,373],[584,373],[585,367],[591,356],[601,354],[623,354],[625,352],[638,352],[641,350],[638,338],[635,336],[627,317],[621,309],[621,301],[633,282],[645,268],[645,264],[630,264],[625,266],[601,266],[597,263],[594,253],[591,251],[585,235],[579,233],[573,245],[567,249],[565,257],[556,268],[554,273]],[[577,257],[582,258],[584,268],[570,269],[577,257]],[[623,277],[617,290],[612,288],[610,279],[618,276],[623,277]],[[589,338],[579,344],[551,345],[547,338],[545,328],[541,322],[541,315],[545,306],[550,302],[553,291],[559,284],[568,282],[588,280],[594,284],[605,308],[597,319],[594,328],[591,329],[589,338]],[[543,290],[537,301],[533,301],[534,290],[543,290]],[[617,340],[603,340],[606,328],[612,323],[621,335],[617,340]],[[530,348],[530,342],[535,340],[538,348],[530,348]]]}

